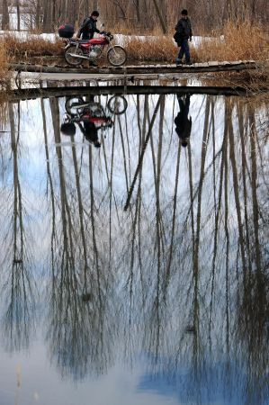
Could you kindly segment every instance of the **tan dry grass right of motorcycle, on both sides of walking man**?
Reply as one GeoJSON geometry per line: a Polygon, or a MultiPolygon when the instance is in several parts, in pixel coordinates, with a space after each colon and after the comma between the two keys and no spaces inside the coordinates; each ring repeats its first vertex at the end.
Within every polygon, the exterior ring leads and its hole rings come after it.
{"type": "MultiPolygon", "coordinates": [[[[267,30],[268,31],[268,30],[267,30]]],[[[248,60],[265,61],[269,58],[269,38],[265,28],[251,26],[249,22],[235,25],[226,23],[222,33],[212,32],[193,47],[191,56],[193,62],[210,60],[248,60]]],[[[172,35],[158,35],[149,38],[134,37],[125,40],[129,58],[138,61],[173,62],[177,49],[172,35]]]]}

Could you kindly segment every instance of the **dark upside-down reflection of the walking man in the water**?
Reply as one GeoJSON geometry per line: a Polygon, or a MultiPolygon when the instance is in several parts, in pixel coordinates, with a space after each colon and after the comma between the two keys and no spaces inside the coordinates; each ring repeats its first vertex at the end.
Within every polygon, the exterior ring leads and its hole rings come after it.
{"type": "Polygon", "coordinates": [[[181,139],[181,145],[184,148],[188,145],[192,131],[192,117],[188,118],[190,97],[190,94],[187,94],[185,100],[183,100],[180,95],[177,95],[180,112],[175,117],[175,132],[181,139]]]}

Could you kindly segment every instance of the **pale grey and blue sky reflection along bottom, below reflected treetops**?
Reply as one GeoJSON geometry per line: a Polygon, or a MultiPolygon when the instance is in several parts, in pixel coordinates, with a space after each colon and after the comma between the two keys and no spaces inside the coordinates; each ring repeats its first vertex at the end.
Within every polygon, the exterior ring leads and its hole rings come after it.
{"type": "Polygon", "coordinates": [[[26,352],[8,356],[0,348],[0,358],[0,403],[3,405],[13,404],[15,396],[20,398],[20,405],[236,405],[247,395],[241,392],[245,371],[238,370],[233,360],[229,363],[220,360],[215,366],[202,361],[197,365],[196,374],[195,362],[150,374],[145,361],[140,359],[131,370],[117,364],[98,379],[87,377],[74,385],[51,368],[40,340],[32,343],[31,355],[26,352]],[[16,388],[18,368],[22,380],[19,389],[16,388]]]}

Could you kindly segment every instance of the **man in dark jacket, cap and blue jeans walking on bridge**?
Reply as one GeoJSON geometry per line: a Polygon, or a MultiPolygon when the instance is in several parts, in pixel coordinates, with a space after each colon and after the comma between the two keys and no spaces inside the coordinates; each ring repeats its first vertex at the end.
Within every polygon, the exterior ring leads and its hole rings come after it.
{"type": "Polygon", "coordinates": [[[193,30],[187,10],[184,9],[181,12],[181,19],[175,25],[175,31],[176,32],[174,38],[177,42],[178,47],[180,47],[178,57],[175,59],[175,63],[177,66],[182,65],[183,58],[185,56],[185,63],[187,65],[192,65],[188,40],[192,40],[193,30]]]}

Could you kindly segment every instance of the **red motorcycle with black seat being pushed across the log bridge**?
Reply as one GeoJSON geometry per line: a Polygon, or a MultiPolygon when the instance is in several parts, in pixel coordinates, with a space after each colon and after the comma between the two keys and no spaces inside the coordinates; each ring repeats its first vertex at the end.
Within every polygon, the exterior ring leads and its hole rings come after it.
{"type": "Polygon", "coordinates": [[[79,66],[83,60],[95,62],[103,55],[103,50],[106,51],[106,58],[112,66],[124,65],[127,59],[127,53],[120,45],[112,45],[113,36],[111,32],[101,32],[99,38],[92,40],[75,40],[67,39],[65,47],[65,59],[70,66],[79,66]]]}

